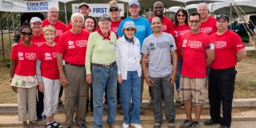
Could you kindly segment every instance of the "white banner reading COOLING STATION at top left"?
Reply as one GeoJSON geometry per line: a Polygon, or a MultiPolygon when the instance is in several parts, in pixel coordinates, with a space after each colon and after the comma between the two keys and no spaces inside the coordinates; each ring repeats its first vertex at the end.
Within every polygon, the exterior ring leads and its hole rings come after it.
{"type": "Polygon", "coordinates": [[[59,10],[59,1],[0,0],[0,11],[3,12],[48,12],[50,7],[59,10]]]}

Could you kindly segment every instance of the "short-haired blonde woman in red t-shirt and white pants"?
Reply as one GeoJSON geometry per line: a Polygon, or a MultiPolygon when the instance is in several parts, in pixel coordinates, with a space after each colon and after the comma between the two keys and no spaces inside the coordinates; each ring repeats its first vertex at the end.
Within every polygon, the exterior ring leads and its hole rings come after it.
{"type": "Polygon", "coordinates": [[[37,50],[37,80],[39,91],[44,92],[44,110],[42,115],[46,116],[45,127],[62,127],[54,121],[54,114],[58,113],[59,70],[57,67],[57,44],[54,42],[56,29],[48,25],[42,29],[46,42],[37,50]]]}

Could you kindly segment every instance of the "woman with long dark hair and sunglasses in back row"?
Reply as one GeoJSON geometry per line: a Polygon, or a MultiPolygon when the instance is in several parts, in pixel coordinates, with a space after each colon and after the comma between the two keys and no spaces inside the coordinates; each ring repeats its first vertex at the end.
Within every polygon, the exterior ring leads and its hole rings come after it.
{"type": "MultiPolygon", "coordinates": [[[[189,26],[187,24],[188,20],[188,13],[187,10],[180,9],[175,14],[175,41],[177,47],[177,54],[178,54],[178,69],[176,75],[176,91],[178,92],[179,89],[179,80],[181,76],[181,67],[182,67],[182,55],[181,55],[181,36],[186,34],[187,31],[190,31],[189,26]]],[[[180,103],[180,99],[176,99],[177,103],[180,103]]]]}

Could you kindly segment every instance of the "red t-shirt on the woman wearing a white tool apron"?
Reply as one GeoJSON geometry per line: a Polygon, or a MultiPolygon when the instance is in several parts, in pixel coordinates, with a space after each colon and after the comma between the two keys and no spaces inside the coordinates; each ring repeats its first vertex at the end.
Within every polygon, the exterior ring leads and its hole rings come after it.
{"type": "Polygon", "coordinates": [[[12,47],[10,59],[16,61],[15,74],[23,76],[36,75],[37,45],[31,44],[29,47],[18,43],[12,47]]]}

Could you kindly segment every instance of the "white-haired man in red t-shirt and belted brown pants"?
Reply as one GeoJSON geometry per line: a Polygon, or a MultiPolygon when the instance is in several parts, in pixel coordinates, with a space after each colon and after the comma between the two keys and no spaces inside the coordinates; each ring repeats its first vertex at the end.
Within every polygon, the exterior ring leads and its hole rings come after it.
{"type": "Polygon", "coordinates": [[[84,67],[89,33],[82,29],[83,22],[82,14],[73,13],[72,29],[61,35],[58,45],[57,64],[61,86],[64,87],[65,93],[64,111],[67,127],[72,127],[75,108],[79,112],[76,113],[75,124],[78,127],[86,127],[89,85],[86,83],[84,67]]]}

